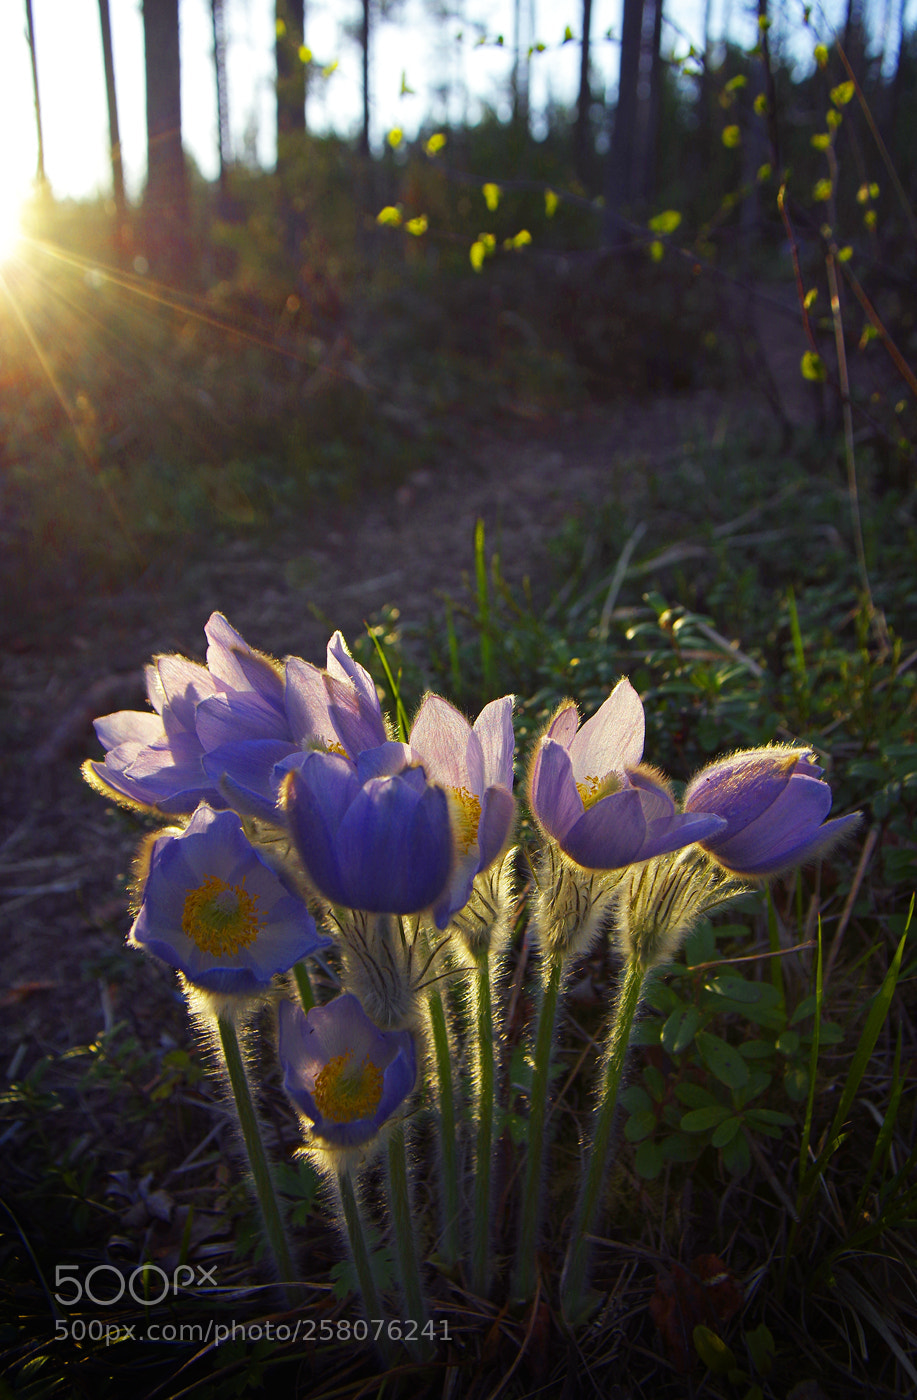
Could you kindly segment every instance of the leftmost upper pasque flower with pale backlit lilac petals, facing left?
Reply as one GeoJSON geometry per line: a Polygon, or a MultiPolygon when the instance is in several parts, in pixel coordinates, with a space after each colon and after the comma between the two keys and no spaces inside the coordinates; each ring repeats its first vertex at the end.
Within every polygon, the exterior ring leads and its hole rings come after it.
{"type": "Polygon", "coordinates": [[[221,613],[204,627],[207,665],[185,657],[157,657],[146,668],[153,714],[122,710],[95,721],[106,750],[88,760],[88,783],[120,802],[188,815],[199,802],[228,804],[218,774],[204,767],[207,749],[239,738],[288,735],[283,679],[274,664],[253,651],[221,613]]]}

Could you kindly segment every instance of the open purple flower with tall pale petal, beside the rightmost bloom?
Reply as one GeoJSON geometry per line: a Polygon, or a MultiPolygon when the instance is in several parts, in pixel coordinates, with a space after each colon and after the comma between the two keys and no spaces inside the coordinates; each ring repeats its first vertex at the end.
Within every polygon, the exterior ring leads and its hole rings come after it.
{"type": "Polygon", "coordinates": [[[532,812],[577,865],[617,869],[724,826],[706,812],[676,812],[662,776],[637,766],[643,742],[643,704],[627,679],[584,725],[573,701],[561,706],[539,741],[529,774],[532,812]]]}

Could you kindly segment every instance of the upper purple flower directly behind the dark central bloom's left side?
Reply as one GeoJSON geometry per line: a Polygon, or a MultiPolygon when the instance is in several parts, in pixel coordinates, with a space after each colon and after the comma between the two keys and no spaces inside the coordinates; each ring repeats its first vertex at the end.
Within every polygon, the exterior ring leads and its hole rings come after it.
{"type": "Polygon", "coordinates": [[[372,676],[353,659],[340,631],[328,643],[325,671],[300,657],[287,658],[284,720],[276,734],[267,734],[263,724],[252,724],[249,732],[239,732],[237,725],[234,732],[232,706],[202,708],[204,770],[231,806],[267,822],[283,819],[277,806],[283,780],[307,752],[318,749],[356,760],[364,749],[389,739],[372,676]],[[213,728],[218,718],[224,720],[221,735],[213,728]]]}

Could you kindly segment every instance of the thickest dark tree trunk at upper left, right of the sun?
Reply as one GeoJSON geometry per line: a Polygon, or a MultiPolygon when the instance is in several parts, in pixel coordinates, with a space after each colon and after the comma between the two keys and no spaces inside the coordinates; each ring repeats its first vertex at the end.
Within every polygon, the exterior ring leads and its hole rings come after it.
{"type": "Polygon", "coordinates": [[[182,151],[178,0],[143,0],[143,42],[147,77],[147,252],[158,276],[181,283],[190,270],[190,214],[182,151]]]}

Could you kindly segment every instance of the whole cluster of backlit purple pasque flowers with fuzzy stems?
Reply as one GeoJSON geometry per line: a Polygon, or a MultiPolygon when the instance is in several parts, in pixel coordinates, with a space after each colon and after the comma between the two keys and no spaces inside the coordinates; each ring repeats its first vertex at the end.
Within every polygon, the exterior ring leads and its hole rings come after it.
{"type": "MultiPolygon", "coordinates": [[[[396,739],[340,633],[319,668],[255,651],[220,613],[204,631],[206,665],[158,657],[146,672],[151,708],[97,720],[105,756],[84,773],[106,797],[172,823],[141,853],[130,942],[171,963],[224,1019],[242,1023],[280,997],[284,1088],[308,1149],[336,1163],[360,1266],[347,1173],[354,1152],[396,1137],[414,1102],[447,1112],[449,1036],[437,983],[468,976],[449,944],[472,925],[476,1023],[491,1037],[475,1060],[484,1067],[477,1100],[482,1084],[494,1092],[484,1074],[498,1042],[489,959],[512,927],[512,696],[469,722],[428,694],[396,739]],[[321,1007],[308,995],[297,1005],[279,979],[314,956],[330,959],[344,990],[321,1007]]],[[[680,804],[643,750],[644,711],[629,680],[585,722],[564,703],[535,745],[526,795],[543,851],[532,916],[543,1016],[553,1018],[568,963],[603,925],[619,930],[623,959],[643,976],[672,956],[724,888],[819,857],[858,820],[826,820],[830,788],[806,749],[721,759],[680,804]]],[[[308,974],[297,980],[308,987],[308,974]]],[[[637,1000],[638,988],[631,1016],[637,1000]]],[[[552,1026],[539,1043],[550,1044],[552,1026]]],[[[486,1134],[476,1151],[490,1152],[486,1134]]],[[[539,1154],[529,1144],[535,1204],[522,1256],[539,1228],[539,1154]]],[[[400,1182],[398,1161],[391,1169],[400,1182]]],[[[490,1161],[475,1169],[489,1173],[490,1161]]],[[[487,1193],[476,1203],[487,1217],[487,1193]]],[[[487,1219],[475,1228],[486,1232],[487,1219]]],[[[472,1253],[484,1287],[486,1239],[472,1253]]],[[[409,1274],[410,1250],[399,1259],[409,1274]]],[[[528,1281],[519,1287],[525,1294],[528,1281]]],[[[421,1306],[409,1277],[405,1292],[421,1306]]]]}

